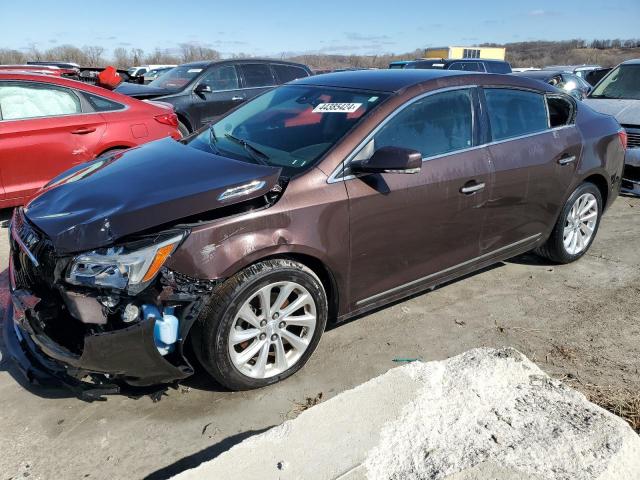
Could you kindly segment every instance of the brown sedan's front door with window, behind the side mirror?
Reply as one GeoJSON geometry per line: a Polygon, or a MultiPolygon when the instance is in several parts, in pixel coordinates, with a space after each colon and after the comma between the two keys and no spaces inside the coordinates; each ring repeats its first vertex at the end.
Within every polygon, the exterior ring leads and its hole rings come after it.
{"type": "Polygon", "coordinates": [[[419,98],[355,156],[394,146],[421,152],[423,162],[416,174],[346,177],[352,308],[435,283],[479,256],[491,164],[475,146],[475,99],[472,88],[419,98]]]}

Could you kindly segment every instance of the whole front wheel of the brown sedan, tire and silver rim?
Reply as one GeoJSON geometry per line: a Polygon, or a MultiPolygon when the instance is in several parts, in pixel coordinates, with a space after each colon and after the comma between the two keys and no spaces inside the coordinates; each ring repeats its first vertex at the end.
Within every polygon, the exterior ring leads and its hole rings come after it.
{"type": "Polygon", "coordinates": [[[214,289],[192,329],[193,350],[223,386],[264,387],[304,366],[318,346],[327,313],[324,287],[312,270],[292,260],[265,260],[214,289]]]}

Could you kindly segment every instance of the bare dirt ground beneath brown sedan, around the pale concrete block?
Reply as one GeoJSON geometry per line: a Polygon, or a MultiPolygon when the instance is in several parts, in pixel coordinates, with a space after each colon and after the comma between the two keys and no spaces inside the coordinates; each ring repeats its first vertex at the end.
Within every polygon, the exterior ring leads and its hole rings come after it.
{"type": "MultiPolygon", "coordinates": [[[[200,375],[158,403],[86,403],[25,385],[4,358],[0,478],[166,478],[397,360],[439,360],[479,346],[513,346],[587,391],[638,392],[639,246],[640,199],[620,197],[579,262],[524,255],[333,328],[297,375],[252,392],[220,391],[200,375]]],[[[6,258],[3,229],[0,271],[6,258]]],[[[0,280],[6,291],[6,272],[0,280]]]]}

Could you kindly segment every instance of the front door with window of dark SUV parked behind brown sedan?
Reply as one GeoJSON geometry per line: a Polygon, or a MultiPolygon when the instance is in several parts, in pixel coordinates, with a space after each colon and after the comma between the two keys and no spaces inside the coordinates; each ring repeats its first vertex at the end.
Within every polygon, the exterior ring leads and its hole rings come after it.
{"type": "Polygon", "coordinates": [[[190,110],[195,113],[193,118],[199,121],[194,129],[217,120],[246,99],[241,89],[238,71],[233,64],[209,68],[197,85],[208,86],[211,91],[193,93],[193,105],[190,110]]]}

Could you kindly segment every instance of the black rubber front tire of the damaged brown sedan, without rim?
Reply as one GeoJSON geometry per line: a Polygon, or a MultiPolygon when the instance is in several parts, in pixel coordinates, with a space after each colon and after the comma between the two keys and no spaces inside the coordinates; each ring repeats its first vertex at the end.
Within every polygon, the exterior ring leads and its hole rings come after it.
{"type": "Polygon", "coordinates": [[[300,370],[307,362],[327,324],[327,296],[320,279],[301,263],[273,259],[251,265],[217,286],[191,332],[193,350],[202,366],[220,384],[231,390],[250,390],[279,382],[300,370]],[[229,354],[229,335],[238,310],[255,292],[270,283],[292,281],[303,286],[316,306],[316,326],[309,345],[299,360],[282,373],[268,378],[243,374],[229,354]]]}

